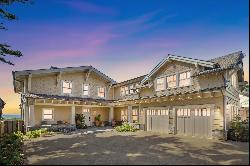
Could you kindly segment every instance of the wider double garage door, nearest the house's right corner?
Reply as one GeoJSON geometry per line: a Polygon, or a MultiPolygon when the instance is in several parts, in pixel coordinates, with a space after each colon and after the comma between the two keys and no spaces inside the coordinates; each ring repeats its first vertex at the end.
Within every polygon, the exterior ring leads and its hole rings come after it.
{"type": "Polygon", "coordinates": [[[211,110],[209,108],[178,109],[177,133],[197,137],[211,137],[211,110]]]}

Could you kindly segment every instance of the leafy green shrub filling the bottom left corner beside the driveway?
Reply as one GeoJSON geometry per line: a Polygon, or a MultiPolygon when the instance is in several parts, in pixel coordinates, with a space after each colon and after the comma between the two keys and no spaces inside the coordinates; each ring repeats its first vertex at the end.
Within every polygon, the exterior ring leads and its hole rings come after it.
{"type": "Polygon", "coordinates": [[[0,138],[0,165],[21,165],[23,161],[23,134],[18,132],[0,138]]]}

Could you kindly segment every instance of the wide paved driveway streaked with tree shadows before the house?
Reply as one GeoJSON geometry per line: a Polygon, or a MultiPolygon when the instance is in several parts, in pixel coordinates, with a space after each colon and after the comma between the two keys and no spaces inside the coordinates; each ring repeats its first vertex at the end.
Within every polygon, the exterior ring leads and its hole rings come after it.
{"type": "Polygon", "coordinates": [[[27,164],[249,164],[249,144],[151,132],[56,135],[25,143],[27,164]]]}

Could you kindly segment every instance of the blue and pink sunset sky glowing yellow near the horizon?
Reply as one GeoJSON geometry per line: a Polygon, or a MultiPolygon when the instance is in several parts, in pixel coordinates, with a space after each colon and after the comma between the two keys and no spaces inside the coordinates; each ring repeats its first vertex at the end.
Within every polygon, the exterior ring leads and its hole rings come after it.
{"type": "Polygon", "coordinates": [[[208,60],[243,51],[249,81],[248,0],[33,0],[8,11],[0,43],[24,54],[0,62],[5,114],[19,113],[11,71],[92,65],[116,81],[147,74],[167,54],[208,60]]]}

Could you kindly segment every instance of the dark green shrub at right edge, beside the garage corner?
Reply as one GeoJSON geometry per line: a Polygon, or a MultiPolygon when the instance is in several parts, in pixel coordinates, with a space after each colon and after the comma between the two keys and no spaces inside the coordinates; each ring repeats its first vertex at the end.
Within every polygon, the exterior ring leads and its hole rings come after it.
{"type": "Polygon", "coordinates": [[[228,130],[228,139],[249,142],[249,122],[247,120],[242,121],[239,115],[234,117],[228,130]]]}

